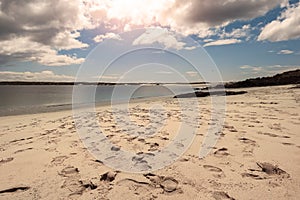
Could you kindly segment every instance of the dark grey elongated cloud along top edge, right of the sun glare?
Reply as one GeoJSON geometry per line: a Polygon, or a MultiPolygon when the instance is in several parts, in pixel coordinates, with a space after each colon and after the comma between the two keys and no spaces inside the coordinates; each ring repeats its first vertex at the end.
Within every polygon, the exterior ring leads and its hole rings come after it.
{"type": "Polygon", "coordinates": [[[187,6],[183,13],[180,13],[185,22],[216,26],[233,20],[264,15],[281,2],[281,0],[177,0],[173,9],[179,10],[187,6]]]}

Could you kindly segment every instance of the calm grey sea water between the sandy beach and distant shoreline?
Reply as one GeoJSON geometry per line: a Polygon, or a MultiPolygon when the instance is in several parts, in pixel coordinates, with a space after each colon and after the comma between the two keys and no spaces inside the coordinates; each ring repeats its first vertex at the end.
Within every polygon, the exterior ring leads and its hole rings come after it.
{"type": "Polygon", "coordinates": [[[167,97],[190,92],[184,85],[0,85],[0,116],[51,112],[72,108],[72,102],[101,105],[130,99],[167,97]],[[91,95],[92,94],[92,95],[91,95]],[[76,96],[78,98],[76,98],[76,96]],[[74,100],[74,101],[72,101],[74,100]]]}

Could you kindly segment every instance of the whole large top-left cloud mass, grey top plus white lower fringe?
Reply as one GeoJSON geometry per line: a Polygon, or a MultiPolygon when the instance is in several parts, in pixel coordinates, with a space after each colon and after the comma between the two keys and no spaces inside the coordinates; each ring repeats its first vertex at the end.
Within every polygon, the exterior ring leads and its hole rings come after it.
{"type": "Polygon", "coordinates": [[[51,65],[64,65],[62,60],[77,64],[82,59],[58,55],[57,50],[87,47],[77,39],[77,30],[90,27],[80,0],[1,0],[0,62],[47,64],[45,58],[52,58],[59,62],[51,65]]]}

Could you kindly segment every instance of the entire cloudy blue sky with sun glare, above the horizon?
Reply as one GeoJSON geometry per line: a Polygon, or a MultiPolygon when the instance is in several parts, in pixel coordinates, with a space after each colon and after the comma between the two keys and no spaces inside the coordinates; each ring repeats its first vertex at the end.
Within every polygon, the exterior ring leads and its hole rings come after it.
{"type": "Polygon", "coordinates": [[[0,81],[236,81],[299,68],[299,0],[0,0],[0,81]]]}

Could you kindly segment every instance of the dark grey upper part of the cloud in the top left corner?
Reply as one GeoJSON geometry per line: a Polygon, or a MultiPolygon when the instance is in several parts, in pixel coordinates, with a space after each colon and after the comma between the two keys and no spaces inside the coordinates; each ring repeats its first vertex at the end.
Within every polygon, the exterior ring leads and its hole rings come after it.
{"type": "Polygon", "coordinates": [[[78,1],[2,0],[0,40],[9,36],[30,36],[33,41],[51,45],[62,31],[80,30],[87,26],[79,21],[78,1]],[[75,5],[74,5],[75,4],[75,5]]]}

